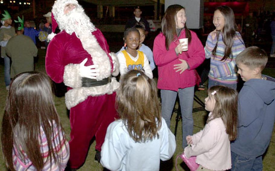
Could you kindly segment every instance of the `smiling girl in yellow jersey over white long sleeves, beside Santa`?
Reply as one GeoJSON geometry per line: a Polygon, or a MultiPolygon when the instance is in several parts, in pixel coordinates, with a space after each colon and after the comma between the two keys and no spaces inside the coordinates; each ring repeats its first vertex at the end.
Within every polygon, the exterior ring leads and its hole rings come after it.
{"type": "Polygon", "coordinates": [[[126,29],[124,42],[127,48],[118,53],[120,75],[123,76],[130,70],[141,70],[152,79],[153,73],[146,55],[142,51],[136,50],[140,42],[139,31],[136,28],[126,29]]]}

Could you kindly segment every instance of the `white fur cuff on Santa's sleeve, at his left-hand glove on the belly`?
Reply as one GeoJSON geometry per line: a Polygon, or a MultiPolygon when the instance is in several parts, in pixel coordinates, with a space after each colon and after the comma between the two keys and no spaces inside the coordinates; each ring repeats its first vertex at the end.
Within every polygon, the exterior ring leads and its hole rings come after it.
{"type": "Polygon", "coordinates": [[[64,68],[63,82],[66,86],[79,88],[82,86],[80,64],[68,64],[64,68]]]}

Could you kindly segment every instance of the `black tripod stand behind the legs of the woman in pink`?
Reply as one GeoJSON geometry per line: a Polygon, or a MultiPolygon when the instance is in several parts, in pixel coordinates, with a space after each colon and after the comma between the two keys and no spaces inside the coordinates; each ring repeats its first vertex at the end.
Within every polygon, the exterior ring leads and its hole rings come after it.
{"type": "MultiPolygon", "coordinates": [[[[178,98],[177,98],[178,99],[178,98]]],[[[198,96],[196,96],[195,94],[194,94],[194,100],[201,106],[201,107],[196,107],[196,108],[193,108],[193,113],[194,112],[199,112],[199,111],[203,111],[203,110],[205,110],[204,109],[204,103],[202,102],[202,100],[201,99],[199,99],[199,97],[198,96]]],[[[179,121],[180,121],[180,119],[181,119],[181,111],[180,111],[180,104],[179,104],[179,107],[176,109],[176,108],[174,108],[173,109],[173,112],[176,112],[177,113],[177,116],[176,116],[176,125],[175,125],[175,132],[174,132],[174,135],[175,135],[175,137],[176,137],[176,134],[177,134],[177,128],[178,128],[178,123],[179,123],[179,121]]]]}

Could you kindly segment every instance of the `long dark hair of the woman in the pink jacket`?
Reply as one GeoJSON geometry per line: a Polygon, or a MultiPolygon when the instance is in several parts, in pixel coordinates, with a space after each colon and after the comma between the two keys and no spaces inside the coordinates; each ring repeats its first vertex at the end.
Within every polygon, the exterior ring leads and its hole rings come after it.
{"type": "MultiPolygon", "coordinates": [[[[165,36],[165,46],[166,49],[169,50],[169,46],[171,42],[177,37],[177,31],[176,31],[176,14],[178,11],[185,8],[181,5],[170,5],[163,16],[163,19],[161,21],[161,30],[163,35],[165,36]]],[[[184,24],[185,29],[185,37],[188,38],[188,44],[191,42],[191,33],[186,27],[186,23],[184,24]]]]}

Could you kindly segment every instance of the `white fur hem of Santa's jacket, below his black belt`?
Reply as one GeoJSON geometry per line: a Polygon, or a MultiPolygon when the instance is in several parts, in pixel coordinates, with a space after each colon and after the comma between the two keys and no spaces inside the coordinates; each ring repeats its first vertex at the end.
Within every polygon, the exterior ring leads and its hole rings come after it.
{"type": "Polygon", "coordinates": [[[85,101],[88,96],[100,96],[105,94],[112,94],[119,87],[115,77],[112,77],[112,81],[106,85],[100,85],[95,87],[80,87],[70,89],[65,94],[65,103],[67,108],[70,110],[71,107],[85,101]]]}

